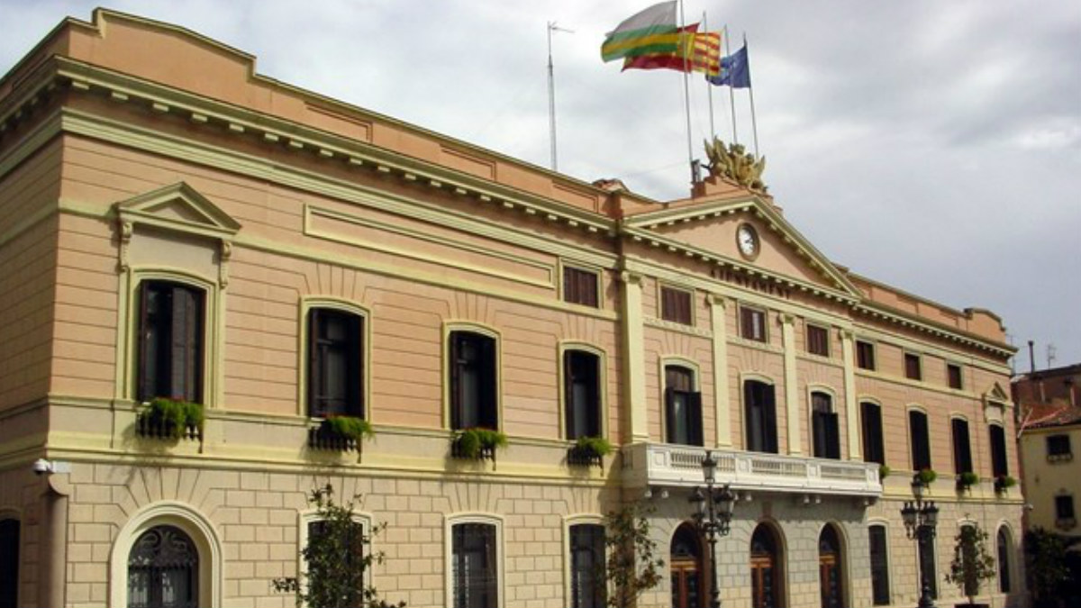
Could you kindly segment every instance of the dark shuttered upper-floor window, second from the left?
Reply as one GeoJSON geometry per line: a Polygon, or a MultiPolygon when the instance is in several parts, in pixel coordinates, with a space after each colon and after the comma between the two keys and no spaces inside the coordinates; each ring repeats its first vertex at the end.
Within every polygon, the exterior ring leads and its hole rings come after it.
{"type": "Polygon", "coordinates": [[[308,415],[364,415],[363,339],[360,315],[308,310],[308,415]]]}

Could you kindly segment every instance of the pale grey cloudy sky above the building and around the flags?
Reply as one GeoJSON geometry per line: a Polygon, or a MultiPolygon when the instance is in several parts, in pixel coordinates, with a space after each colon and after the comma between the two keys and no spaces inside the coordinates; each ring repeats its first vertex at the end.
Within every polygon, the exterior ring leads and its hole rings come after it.
{"type": "MultiPolygon", "coordinates": [[[[258,57],[267,76],[547,167],[546,24],[559,168],[686,196],[682,76],[600,60],[652,0],[117,1],[258,57]]],[[[94,3],[0,0],[0,71],[94,3]]],[[[1081,2],[685,0],[750,41],[765,182],[839,264],[1001,315],[1037,366],[1081,362],[1081,2]]],[[[733,50],[735,45],[733,47],[733,50]]],[[[729,90],[712,95],[732,138],[729,90]]],[[[735,98],[750,142],[745,90],[735,98]]],[[[710,133],[692,81],[695,156],[710,133]]]]}

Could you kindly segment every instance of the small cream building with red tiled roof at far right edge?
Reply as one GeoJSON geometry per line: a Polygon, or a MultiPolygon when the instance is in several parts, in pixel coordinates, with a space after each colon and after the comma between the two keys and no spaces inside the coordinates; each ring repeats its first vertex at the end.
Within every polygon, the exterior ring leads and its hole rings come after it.
{"type": "Polygon", "coordinates": [[[1081,365],[1033,371],[1014,379],[1014,402],[1023,421],[1019,436],[1029,528],[1081,539],[1081,476],[1073,460],[1081,449],[1081,407],[1075,383],[1081,365]]]}

